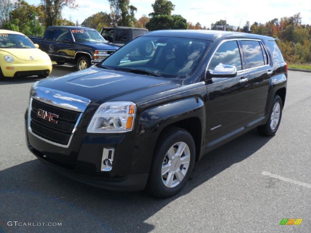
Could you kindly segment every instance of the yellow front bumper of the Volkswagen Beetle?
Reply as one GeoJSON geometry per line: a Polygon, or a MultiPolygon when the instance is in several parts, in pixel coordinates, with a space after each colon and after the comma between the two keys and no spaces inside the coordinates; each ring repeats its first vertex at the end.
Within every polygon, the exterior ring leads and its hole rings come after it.
{"type": "MultiPolygon", "coordinates": [[[[3,62],[1,64],[1,70],[5,77],[14,77],[18,74],[23,74],[22,72],[25,72],[26,75],[20,75],[20,76],[31,76],[31,72],[29,72],[30,75],[27,75],[27,71],[37,71],[38,75],[41,74],[40,71],[47,71],[49,74],[52,72],[52,62],[51,61],[38,61],[38,62],[3,62]],[[10,69],[7,69],[7,67],[12,67],[10,69]]],[[[33,72],[34,75],[36,75],[36,72],[33,72]]]]}

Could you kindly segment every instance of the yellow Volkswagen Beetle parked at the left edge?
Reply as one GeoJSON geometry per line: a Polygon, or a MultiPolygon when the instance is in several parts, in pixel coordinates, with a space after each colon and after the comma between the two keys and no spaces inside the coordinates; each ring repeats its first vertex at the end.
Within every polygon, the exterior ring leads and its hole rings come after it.
{"type": "Polygon", "coordinates": [[[48,54],[22,33],[0,30],[0,79],[3,77],[47,77],[52,71],[48,54]]]}

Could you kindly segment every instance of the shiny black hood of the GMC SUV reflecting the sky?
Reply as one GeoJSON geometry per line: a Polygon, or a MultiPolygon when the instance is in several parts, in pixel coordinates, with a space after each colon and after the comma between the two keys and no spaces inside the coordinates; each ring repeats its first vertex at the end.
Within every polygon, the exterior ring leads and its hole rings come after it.
{"type": "Polygon", "coordinates": [[[139,98],[180,85],[178,79],[105,70],[95,66],[38,83],[41,87],[75,94],[99,103],[111,100],[136,102],[139,98]]]}

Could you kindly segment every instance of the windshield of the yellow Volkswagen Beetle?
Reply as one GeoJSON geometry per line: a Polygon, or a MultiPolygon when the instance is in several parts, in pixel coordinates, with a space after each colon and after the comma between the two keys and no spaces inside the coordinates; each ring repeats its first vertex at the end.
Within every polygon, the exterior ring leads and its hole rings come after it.
{"type": "Polygon", "coordinates": [[[0,48],[36,48],[25,35],[0,33],[0,48]]]}

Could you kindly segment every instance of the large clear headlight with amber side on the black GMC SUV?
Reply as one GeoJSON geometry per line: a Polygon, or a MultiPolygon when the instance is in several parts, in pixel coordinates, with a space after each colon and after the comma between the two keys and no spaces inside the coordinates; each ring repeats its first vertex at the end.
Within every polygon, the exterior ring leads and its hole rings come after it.
{"type": "Polygon", "coordinates": [[[100,105],[89,126],[88,133],[123,133],[133,129],[136,106],[133,102],[107,102],[100,105]]]}

